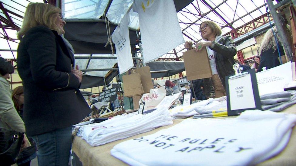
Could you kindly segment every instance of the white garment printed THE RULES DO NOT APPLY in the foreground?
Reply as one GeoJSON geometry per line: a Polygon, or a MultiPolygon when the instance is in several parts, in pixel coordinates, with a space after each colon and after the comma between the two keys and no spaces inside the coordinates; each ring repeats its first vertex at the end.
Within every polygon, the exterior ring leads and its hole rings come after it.
{"type": "Polygon", "coordinates": [[[255,165],[284,149],[295,123],[294,114],[261,110],[231,119],[186,119],[121,142],[111,155],[129,165],[255,165]]]}

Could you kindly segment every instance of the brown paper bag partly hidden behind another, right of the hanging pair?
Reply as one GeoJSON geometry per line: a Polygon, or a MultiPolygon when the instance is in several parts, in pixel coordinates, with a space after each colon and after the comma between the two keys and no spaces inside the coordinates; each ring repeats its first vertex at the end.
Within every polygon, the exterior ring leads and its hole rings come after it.
{"type": "Polygon", "coordinates": [[[151,80],[150,67],[149,66],[143,67],[142,63],[138,63],[136,67],[137,68],[134,70],[136,73],[139,73],[141,76],[141,83],[143,86],[144,93],[150,93],[150,89],[154,88],[151,80]]]}

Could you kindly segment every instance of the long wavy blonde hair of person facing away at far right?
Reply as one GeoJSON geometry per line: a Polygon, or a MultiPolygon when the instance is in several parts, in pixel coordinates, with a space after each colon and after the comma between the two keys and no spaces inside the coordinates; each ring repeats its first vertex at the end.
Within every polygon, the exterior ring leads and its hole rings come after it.
{"type": "MultiPolygon", "coordinates": [[[[277,37],[278,44],[281,45],[281,39],[278,36],[277,28],[274,27],[272,29],[274,31],[275,36],[277,37]]],[[[263,51],[268,50],[270,48],[272,48],[274,51],[277,49],[277,43],[275,42],[274,35],[271,29],[269,29],[264,35],[263,41],[259,49],[259,54],[261,55],[263,51]]]]}

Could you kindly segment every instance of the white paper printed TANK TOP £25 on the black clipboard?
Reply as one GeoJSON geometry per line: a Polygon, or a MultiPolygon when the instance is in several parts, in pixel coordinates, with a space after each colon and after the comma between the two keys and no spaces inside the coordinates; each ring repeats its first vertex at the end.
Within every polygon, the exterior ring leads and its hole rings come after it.
{"type": "Polygon", "coordinates": [[[251,74],[229,79],[229,96],[231,110],[254,108],[255,99],[251,74]]]}

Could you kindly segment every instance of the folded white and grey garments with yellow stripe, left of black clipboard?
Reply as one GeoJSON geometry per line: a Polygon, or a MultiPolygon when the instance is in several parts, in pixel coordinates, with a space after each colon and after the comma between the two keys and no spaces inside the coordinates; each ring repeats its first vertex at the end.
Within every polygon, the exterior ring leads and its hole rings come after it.
{"type": "Polygon", "coordinates": [[[227,116],[227,100],[213,101],[207,106],[195,109],[195,111],[199,114],[194,115],[193,119],[227,116]]]}

